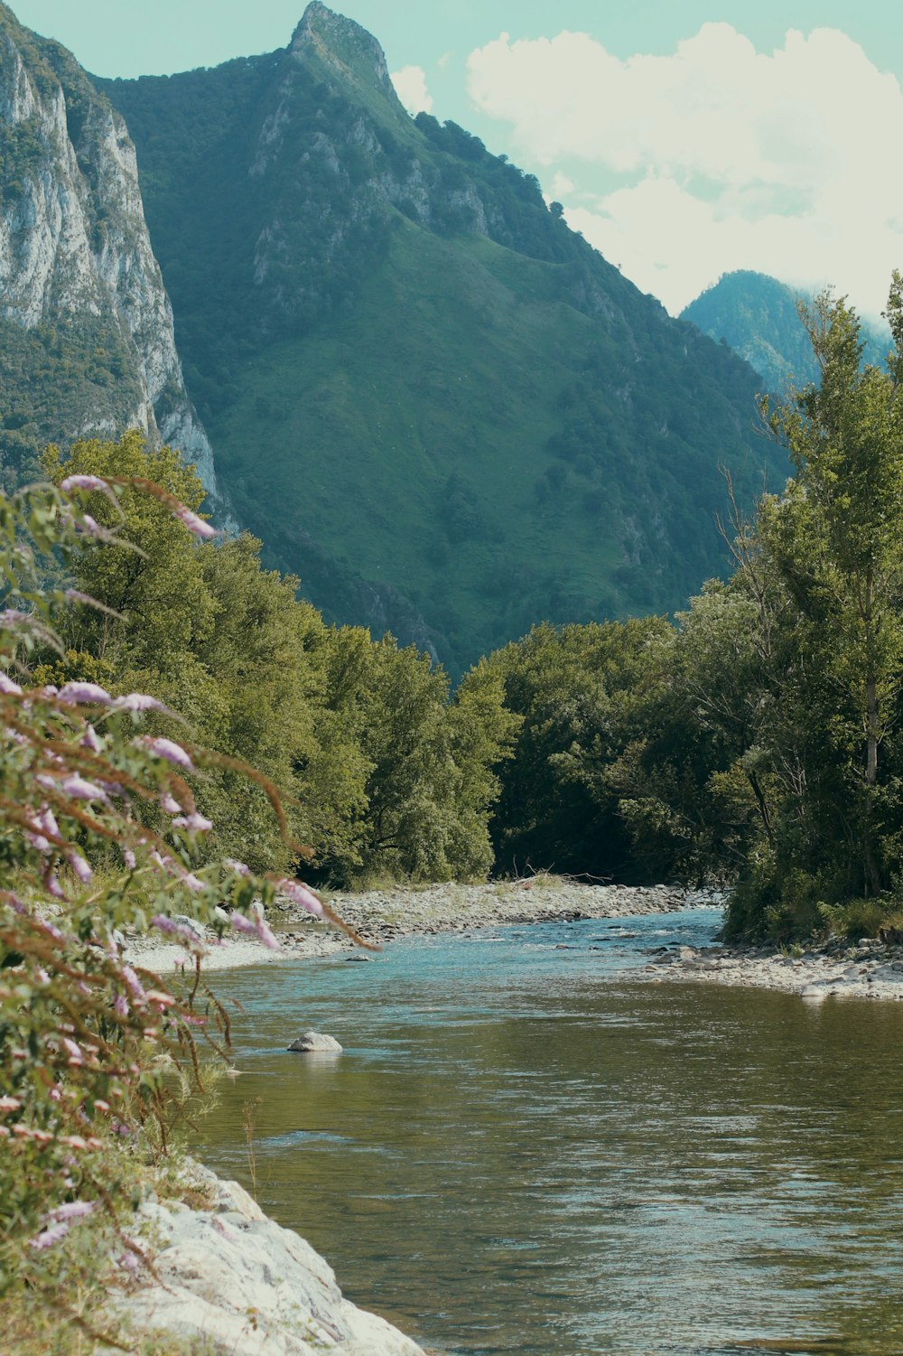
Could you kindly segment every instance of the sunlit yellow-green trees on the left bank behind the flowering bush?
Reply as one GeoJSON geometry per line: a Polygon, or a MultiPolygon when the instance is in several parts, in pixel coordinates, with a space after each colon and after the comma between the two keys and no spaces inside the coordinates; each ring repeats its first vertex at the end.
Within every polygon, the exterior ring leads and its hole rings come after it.
{"type": "MultiPolygon", "coordinates": [[[[146,450],[138,434],[76,443],[65,464],[52,449],[45,469],[57,481],[141,476],[190,509],[203,499],[178,453],[146,450]]],[[[92,500],[99,527],[123,545],[88,546],[71,568],[76,589],[111,612],[75,609],[65,658],[43,656],[35,681],[150,693],[187,721],[190,738],[254,765],[282,792],[293,837],[312,849],[309,879],[487,873],[492,769],[517,725],[495,671],[477,666],[450,700],[446,675],[415,648],[327,626],[298,601],[297,579],[260,567],[254,538],[197,544],[165,504],[134,490],[115,509],[100,494],[92,500]]],[[[153,719],[159,732],[186,738],[182,721],[153,719]]],[[[262,785],[222,767],[195,793],[216,826],[213,854],[255,871],[292,865],[262,785]]]]}

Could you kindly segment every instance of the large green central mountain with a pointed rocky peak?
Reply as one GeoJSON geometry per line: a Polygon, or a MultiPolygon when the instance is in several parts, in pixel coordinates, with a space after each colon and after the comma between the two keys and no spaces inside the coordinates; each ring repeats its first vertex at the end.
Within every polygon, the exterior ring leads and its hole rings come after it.
{"type": "Polygon", "coordinates": [[[758,378],[673,321],[313,3],[279,52],[98,81],[239,518],[327,617],[453,670],[540,620],[679,606],[721,466],[784,461],[758,378]]]}

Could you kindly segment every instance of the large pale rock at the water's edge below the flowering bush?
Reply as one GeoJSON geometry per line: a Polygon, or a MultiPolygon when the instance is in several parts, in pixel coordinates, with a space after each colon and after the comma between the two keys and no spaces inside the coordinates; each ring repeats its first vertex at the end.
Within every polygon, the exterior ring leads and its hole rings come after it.
{"type": "Polygon", "coordinates": [[[141,1207],[156,1279],[115,1302],[133,1329],[216,1356],[423,1356],[397,1328],[344,1299],[329,1264],[237,1182],[197,1165],[194,1176],[210,1208],[141,1207]]]}

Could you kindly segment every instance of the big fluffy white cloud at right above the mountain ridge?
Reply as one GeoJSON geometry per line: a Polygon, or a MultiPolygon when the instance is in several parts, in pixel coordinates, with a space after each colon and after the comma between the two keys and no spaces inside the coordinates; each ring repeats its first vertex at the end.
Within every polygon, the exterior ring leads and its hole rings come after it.
{"type": "Polygon", "coordinates": [[[792,30],[763,54],[706,23],[671,56],[626,61],[587,34],[502,34],[470,53],[468,79],[517,153],[552,171],[571,225],[671,311],[744,267],[834,282],[875,313],[903,266],[887,152],[903,144],[903,95],[843,33],[792,30]],[[594,197],[599,170],[618,186],[594,197]]]}

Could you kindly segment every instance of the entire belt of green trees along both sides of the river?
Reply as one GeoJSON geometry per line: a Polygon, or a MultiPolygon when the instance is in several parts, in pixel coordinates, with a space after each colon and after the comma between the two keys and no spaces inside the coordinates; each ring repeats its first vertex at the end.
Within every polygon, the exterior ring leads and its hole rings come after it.
{"type": "MultiPolygon", "coordinates": [[[[111,613],[69,622],[37,670],[167,701],[194,738],[286,795],[320,879],[475,879],[555,869],[717,880],[735,933],[873,930],[896,910],[903,842],[903,283],[888,370],[856,315],[805,313],[820,384],[763,404],[795,477],[725,530],[735,570],[674,621],[536,626],[450,696],[426,655],[329,628],[259,544],[186,540],[125,491],[138,551],[85,551],[76,584],[111,613]]],[[[50,473],[60,479],[56,453],[50,473]]],[[[80,443],[66,473],[144,475],[197,507],[178,454],[138,435],[80,443]]],[[[165,721],[163,721],[165,725],[165,721]]],[[[264,791],[197,788],[212,846],[286,869],[264,791]]]]}

